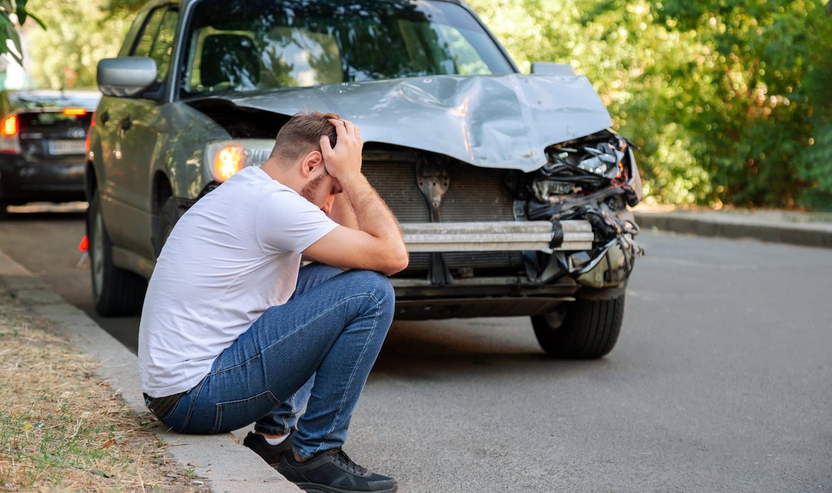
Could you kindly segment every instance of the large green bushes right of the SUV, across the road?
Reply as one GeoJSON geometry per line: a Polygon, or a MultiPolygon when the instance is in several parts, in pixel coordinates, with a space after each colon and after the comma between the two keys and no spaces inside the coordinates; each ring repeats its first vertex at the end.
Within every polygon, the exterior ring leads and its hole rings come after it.
{"type": "Polygon", "coordinates": [[[826,0],[469,4],[522,68],[589,77],[652,200],[832,208],[826,0]]]}

